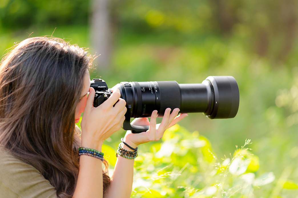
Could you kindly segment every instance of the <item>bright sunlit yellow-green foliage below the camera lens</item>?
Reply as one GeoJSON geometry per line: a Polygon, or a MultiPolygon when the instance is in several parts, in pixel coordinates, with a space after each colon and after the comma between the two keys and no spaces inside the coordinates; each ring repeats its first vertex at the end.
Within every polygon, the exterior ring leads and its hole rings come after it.
{"type": "MultiPolygon", "coordinates": [[[[272,188],[275,175],[257,172],[259,159],[247,147],[249,144],[250,140],[246,140],[233,155],[218,159],[206,137],[177,124],[166,131],[162,142],[140,146],[131,197],[253,198],[272,195],[270,188],[264,186],[272,188]]],[[[103,151],[109,158],[115,153],[113,149],[103,148],[103,151]]],[[[292,180],[283,180],[280,185],[281,189],[297,189],[297,183],[292,180]]]]}

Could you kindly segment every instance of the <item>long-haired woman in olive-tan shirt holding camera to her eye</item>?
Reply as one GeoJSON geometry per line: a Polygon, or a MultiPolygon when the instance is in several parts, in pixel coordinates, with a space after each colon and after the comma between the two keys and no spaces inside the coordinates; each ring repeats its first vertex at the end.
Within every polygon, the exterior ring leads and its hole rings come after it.
{"type": "Polygon", "coordinates": [[[176,117],[179,109],[170,113],[168,108],[159,126],[156,110],[150,122],[135,119],[134,124],[150,124],[150,128],[126,133],[110,179],[102,169],[107,163],[101,147],[120,129],[126,107],[118,89],[93,107],[91,64],[92,57],[83,49],[46,37],[24,40],[2,59],[1,196],[130,197],[137,146],[159,140],[168,127],[187,116],[176,117]],[[80,132],[75,122],[82,112],[80,132]],[[88,149],[92,153],[86,155],[88,149]]]}

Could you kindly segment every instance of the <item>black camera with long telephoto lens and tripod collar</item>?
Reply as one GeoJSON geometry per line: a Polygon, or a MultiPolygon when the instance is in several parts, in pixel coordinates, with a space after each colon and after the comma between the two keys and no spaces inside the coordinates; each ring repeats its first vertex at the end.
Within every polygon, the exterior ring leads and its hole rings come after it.
{"type": "MultiPolygon", "coordinates": [[[[95,90],[94,107],[111,95],[102,79],[91,80],[95,90]]],[[[239,108],[238,84],[232,76],[209,76],[202,83],[179,84],[176,81],[120,82],[115,86],[126,101],[124,130],[144,132],[149,126],[130,124],[131,118],[150,117],[153,110],[162,117],[167,108],[180,113],[203,113],[210,119],[234,118],[239,108]]]]}

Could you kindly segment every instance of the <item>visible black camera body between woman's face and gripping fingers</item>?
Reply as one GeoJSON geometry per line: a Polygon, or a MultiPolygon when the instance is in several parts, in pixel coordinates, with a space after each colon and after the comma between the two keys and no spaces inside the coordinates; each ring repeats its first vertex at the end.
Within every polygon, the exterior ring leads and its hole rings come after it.
{"type": "Polygon", "coordinates": [[[108,90],[107,83],[99,78],[93,79],[90,82],[90,87],[93,87],[95,90],[94,107],[98,107],[99,105],[101,105],[112,94],[112,92],[108,90]]]}

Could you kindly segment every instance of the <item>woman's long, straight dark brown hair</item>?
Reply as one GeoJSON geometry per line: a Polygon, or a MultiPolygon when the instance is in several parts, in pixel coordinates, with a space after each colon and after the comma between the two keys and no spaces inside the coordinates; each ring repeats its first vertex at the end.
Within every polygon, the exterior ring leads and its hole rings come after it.
{"type": "MultiPolygon", "coordinates": [[[[72,197],[79,171],[75,108],[92,57],[58,38],[28,38],[0,64],[0,145],[72,197]]],[[[105,163],[107,167],[107,163],[105,163]]],[[[104,173],[104,191],[110,178],[104,173]]]]}

